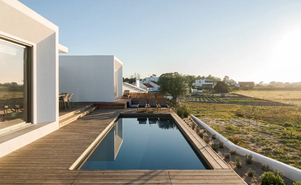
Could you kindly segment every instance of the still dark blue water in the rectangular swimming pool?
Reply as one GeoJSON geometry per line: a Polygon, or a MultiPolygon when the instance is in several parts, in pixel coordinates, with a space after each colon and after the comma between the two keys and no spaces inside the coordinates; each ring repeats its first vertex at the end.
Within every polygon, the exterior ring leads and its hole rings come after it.
{"type": "Polygon", "coordinates": [[[119,118],[81,170],[210,169],[169,118],[119,118]]]}

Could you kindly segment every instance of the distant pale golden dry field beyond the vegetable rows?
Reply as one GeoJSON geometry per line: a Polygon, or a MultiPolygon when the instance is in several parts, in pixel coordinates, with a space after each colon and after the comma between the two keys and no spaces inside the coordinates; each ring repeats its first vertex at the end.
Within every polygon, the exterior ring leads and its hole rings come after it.
{"type": "Polygon", "coordinates": [[[235,91],[254,98],[301,106],[301,91],[235,91]]]}

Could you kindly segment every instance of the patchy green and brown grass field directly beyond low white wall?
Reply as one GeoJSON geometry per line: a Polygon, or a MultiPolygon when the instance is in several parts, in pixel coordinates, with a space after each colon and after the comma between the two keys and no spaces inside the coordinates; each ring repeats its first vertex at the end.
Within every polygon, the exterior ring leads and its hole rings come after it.
{"type": "Polygon", "coordinates": [[[301,169],[301,107],[185,102],[234,144],[301,169]]]}

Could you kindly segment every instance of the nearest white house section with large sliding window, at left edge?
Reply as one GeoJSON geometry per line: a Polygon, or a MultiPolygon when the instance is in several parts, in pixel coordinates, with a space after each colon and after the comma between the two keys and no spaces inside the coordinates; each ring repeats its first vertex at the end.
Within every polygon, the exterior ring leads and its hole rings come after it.
{"type": "Polygon", "coordinates": [[[0,0],[0,157],[59,128],[59,53],[68,48],[58,31],[17,0],[0,0]]]}

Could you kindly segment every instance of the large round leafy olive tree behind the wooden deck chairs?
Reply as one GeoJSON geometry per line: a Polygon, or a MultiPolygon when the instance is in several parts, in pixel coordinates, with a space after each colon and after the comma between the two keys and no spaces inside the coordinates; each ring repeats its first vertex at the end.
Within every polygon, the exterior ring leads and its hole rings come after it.
{"type": "Polygon", "coordinates": [[[189,76],[174,72],[161,75],[157,84],[160,85],[159,92],[161,94],[170,94],[172,99],[177,100],[178,97],[184,97],[188,94],[189,82],[189,76]]]}

